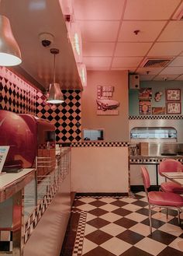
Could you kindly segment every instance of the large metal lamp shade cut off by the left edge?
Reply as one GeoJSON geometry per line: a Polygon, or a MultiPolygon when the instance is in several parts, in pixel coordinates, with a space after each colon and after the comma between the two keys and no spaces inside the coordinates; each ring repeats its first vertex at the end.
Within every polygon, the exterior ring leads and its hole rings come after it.
{"type": "Polygon", "coordinates": [[[19,45],[12,34],[9,19],[0,15],[0,65],[15,66],[21,62],[19,45]]]}

